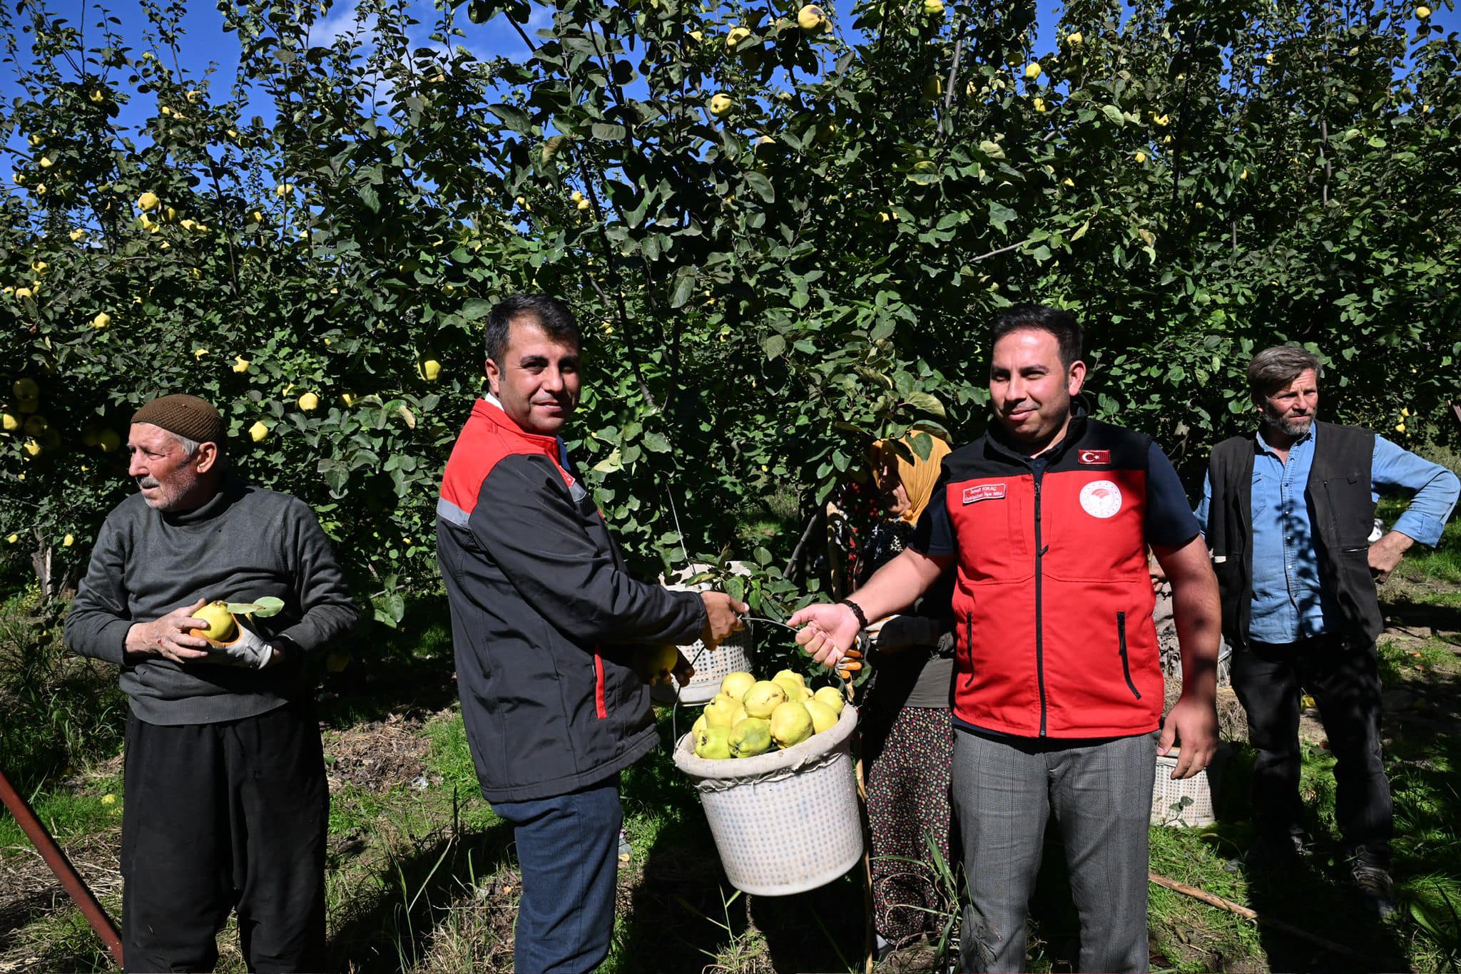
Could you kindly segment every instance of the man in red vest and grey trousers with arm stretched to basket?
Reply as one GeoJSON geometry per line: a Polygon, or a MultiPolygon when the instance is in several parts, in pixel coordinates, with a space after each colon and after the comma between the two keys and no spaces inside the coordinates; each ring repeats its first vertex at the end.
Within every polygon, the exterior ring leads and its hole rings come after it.
{"type": "Polygon", "coordinates": [[[1053,810],[1081,916],[1081,971],[1144,971],[1156,755],[1211,759],[1217,581],[1150,437],[1086,416],[1074,315],[1012,308],[991,329],[993,422],[953,451],[909,549],[836,606],[792,616],[834,663],[866,619],[955,567],[953,800],[970,907],[960,970],[1021,971],[1053,810]],[[1182,698],[1163,721],[1147,546],[1172,580],[1182,698]]]}

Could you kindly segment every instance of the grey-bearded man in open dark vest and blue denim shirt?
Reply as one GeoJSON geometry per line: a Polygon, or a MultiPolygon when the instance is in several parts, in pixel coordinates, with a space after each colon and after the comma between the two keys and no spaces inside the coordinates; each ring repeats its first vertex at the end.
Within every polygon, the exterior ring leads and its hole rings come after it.
{"type": "Polygon", "coordinates": [[[1375,593],[1416,542],[1441,540],[1455,473],[1359,426],[1316,419],[1321,362],[1300,348],[1248,367],[1256,435],[1213,448],[1202,524],[1233,645],[1233,689],[1248,711],[1258,843],[1254,869],[1305,851],[1299,799],[1299,698],[1318,702],[1335,758],[1337,818],[1354,885],[1381,916],[1395,910],[1394,813],[1381,758],[1375,593]],[[1394,530],[1369,542],[1382,489],[1414,494],[1394,530]]]}

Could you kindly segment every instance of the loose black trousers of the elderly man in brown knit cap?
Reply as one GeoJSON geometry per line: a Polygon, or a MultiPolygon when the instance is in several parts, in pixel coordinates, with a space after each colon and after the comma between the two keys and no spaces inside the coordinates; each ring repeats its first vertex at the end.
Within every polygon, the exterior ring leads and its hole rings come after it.
{"type": "Polygon", "coordinates": [[[216,724],[127,718],[127,971],[209,971],[232,908],[250,971],[323,971],[330,796],[307,705],[216,724]]]}

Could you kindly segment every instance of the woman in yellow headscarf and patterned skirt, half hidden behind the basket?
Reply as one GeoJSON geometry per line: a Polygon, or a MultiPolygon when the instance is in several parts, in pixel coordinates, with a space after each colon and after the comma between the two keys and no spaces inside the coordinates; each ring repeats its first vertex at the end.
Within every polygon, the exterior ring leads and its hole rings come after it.
{"type": "MultiPolygon", "coordinates": [[[[907,546],[945,456],[948,444],[925,432],[874,444],[872,475],[884,517],[868,530],[858,586],[907,546]],[[932,441],[926,460],[913,450],[915,437],[932,441]]],[[[950,862],[953,584],[948,572],[907,613],[872,626],[874,678],[862,708],[862,759],[880,954],[935,933],[939,913],[955,908],[929,850],[932,841],[942,862],[950,862]]]]}

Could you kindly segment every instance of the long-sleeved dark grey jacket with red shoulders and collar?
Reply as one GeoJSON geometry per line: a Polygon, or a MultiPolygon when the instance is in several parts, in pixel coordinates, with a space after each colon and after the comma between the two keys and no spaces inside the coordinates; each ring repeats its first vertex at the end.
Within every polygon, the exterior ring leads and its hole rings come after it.
{"type": "Polygon", "coordinates": [[[482,794],[524,802],[602,781],[653,749],[633,643],[693,643],[694,593],[631,578],[557,437],[478,400],[447,460],[437,561],[482,794]]]}

